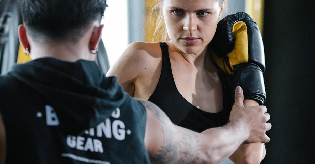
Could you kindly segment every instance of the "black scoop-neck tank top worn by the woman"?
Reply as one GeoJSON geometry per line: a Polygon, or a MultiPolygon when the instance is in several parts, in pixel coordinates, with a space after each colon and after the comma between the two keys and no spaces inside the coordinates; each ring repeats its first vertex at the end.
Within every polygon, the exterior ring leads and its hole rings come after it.
{"type": "Polygon", "coordinates": [[[218,113],[205,112],[189,103],[179,93],[173,78],[168,46],[165,42],[160,42],[160,46],[163,55],[161,75],[148,100],[159,106],[174,124],[196,132],[225,125],[232,107],[231,90],[221,70],[219,69],[219,76],[223,88],[223,110],[218,113]]]}

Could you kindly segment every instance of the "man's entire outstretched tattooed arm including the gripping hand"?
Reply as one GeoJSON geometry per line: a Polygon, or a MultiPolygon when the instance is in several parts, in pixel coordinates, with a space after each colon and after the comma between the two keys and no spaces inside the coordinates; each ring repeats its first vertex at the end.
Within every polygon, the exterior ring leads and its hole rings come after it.
{"type": "MultiPolygon", "coordinates": [[[[235,96],[236,102],[240,98],[243,94],[235,96]]],[[[269,141],[265,132],[271,125],[266,123],[268,114],[263,106],[245,108],[234,104],[230,123],[196,133],[174,125],[155,104],[140,102],[147,111],[145,144],[152,163],[219,163],[245,140],[269,141]]]]}

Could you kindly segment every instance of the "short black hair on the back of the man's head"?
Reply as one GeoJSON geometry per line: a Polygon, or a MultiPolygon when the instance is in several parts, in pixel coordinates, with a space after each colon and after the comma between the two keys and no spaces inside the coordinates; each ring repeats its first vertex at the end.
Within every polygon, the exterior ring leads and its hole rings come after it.
{"type": "Polygon", "coordinates": [[[26,29],[35,39],[77,42],[92,21],[101,20],[106,0],[19,0],[26,29]]]}

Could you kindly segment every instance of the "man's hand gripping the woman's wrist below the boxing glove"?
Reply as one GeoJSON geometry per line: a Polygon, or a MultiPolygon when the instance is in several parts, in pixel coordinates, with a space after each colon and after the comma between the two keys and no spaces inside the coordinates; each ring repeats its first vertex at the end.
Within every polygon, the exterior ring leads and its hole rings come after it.
{"type": "Polygon", "coordinates": [[[235,90],[235,103],[230,113],[230,122],[238,121],[244,127],[247,127],[249,137],[245,142],[269,142],[270,138],[266,135],[266,131],[271,129],[271,124],[267,123],[270,119],[267,108],[265,106],[244,107],[243,100],[243,90],[240,86],[237,86],[235,90]]]}

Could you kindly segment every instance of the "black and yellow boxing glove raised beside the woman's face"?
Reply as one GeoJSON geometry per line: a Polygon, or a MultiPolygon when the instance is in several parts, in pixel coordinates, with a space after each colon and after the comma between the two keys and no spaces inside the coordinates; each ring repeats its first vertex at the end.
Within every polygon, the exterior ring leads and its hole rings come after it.
{"type": "Polygon", "coordinates": [[[231,89],[241,86],[244,99],[266,101],[265,53],[260,30],[254,19],[244,13],[228,15],[217,25],[210,42],[215,63],[231,75],[231,89]]]}

